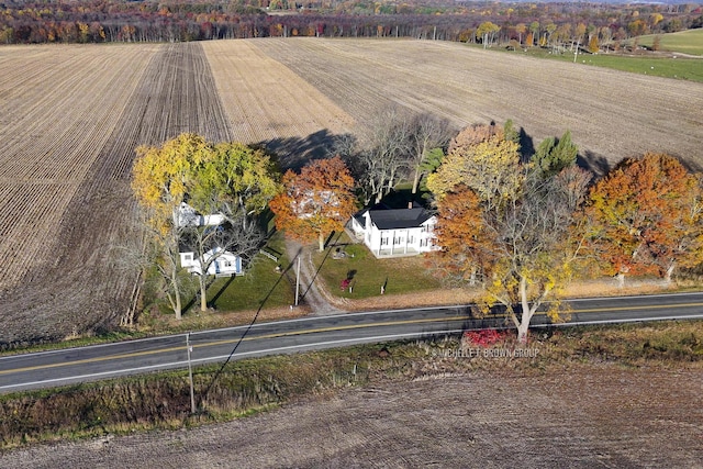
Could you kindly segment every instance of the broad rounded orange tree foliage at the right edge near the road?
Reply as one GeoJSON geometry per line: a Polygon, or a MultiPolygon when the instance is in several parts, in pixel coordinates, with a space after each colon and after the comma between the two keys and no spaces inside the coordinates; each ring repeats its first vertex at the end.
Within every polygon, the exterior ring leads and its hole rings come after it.
{"type": "Polygon", "coordinates": [[[671,279],[677,266],[703,260],[701,176],[672,156],[621,161],[590,192],[589,246],[609,273],[671,279]]]}

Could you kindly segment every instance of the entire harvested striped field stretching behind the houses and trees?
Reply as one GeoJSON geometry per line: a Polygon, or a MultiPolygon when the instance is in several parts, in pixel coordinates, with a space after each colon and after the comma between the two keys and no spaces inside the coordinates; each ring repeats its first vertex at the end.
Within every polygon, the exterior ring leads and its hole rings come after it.
{"type": "Polygon", "coordinates": [[[115,246],[134,149],[182,132],[324,155],[379,107],[457,126],[572,131],[595,169],[646,150],[703,163],[700,83],[421,41],[270,38],[0,47],[0,345],[119,322],[137,278],[115,246]]]}

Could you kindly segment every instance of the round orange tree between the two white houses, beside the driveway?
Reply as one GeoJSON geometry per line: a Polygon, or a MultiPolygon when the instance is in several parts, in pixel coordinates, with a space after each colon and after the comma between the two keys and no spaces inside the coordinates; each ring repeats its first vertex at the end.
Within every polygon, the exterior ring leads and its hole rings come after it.
{"type": "Polygon", "coordinates": [[[325,237],[344,230],[356,209],[354,178],[342,158],[316,159],[300,175],[283,175],[283,191],[269,203],[276,227],[287,236],[309,243],[317,239],[324,250],[325,237]]]}

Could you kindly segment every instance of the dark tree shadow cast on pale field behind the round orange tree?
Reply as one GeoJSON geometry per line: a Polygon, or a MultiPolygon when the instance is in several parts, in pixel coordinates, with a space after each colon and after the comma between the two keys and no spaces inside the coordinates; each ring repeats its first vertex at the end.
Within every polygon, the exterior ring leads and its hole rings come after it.
{"type": "Polygon", "coordinates": [[[332,134],[326,129],[308,135],[306,137],[271,138],[259,142],[267,152],[278,155],[279,164],[283,170],[299,170],[311,159],[321,159],[333,156],[335,148],[348,134],[332,134]]]}

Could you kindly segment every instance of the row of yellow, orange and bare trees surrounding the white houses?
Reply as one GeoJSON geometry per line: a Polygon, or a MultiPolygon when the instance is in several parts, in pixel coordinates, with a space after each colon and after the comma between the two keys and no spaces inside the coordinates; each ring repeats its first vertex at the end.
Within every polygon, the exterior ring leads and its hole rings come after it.
{"type": "MultiPolygon", "coordinates": [[[[703,176],[670,155],[626,158],[596,178],[578,166],[569,131],[532,148],[511,121],[457,132],[433,115],[386,110],[373,122],[328,158],[282,176],[261,148],[194,134],[137,149],[133,189],[146,233],[138,265],[158,272],[176,315],[187,279],[178,261],[183,243],[201,263],[216,259],[205,255],[213,245],[249,261],[266,241],[257,216],[270,210],[278,230],[323,250],[356,210],[399,181],[436,212],[440,250],[426,255],[428,269],[480,287],[480,311],[502,305],[521,340],[540,308],[559,321],[573,279],[670,281],[703,263],[703,176]],[[182,223],[183,202],[225,223],[182,223]]],[[[199,287],[204,310],[205,275],[199,287]]]]}

